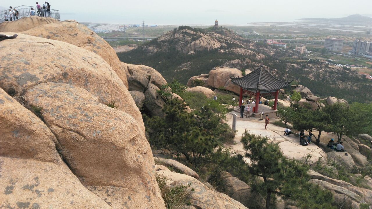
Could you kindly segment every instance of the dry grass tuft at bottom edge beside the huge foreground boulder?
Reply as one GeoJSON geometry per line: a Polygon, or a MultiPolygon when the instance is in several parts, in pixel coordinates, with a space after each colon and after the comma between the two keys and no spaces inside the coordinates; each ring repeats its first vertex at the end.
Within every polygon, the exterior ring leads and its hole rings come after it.
{"type": "Polygon", "coordinates": [[[155,174],[155,178],[167,209],[182,209],[185,204],[187,204],[187,195],[189,194],[187,188],[189,188],[191,184],[187,186],[168,186],[166,177],[155,174]]]}

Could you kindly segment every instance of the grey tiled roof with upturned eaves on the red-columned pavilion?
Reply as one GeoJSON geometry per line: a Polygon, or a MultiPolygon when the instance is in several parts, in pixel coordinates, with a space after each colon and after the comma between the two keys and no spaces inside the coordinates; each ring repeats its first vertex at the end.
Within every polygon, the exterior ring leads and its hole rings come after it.
{"type": "Polygon", "coordinates": [[[241,78],[231,78],[231,82],[245,90],[276,91],[288,86],[291,81],[275,78],[263,65],[241,78]]]}

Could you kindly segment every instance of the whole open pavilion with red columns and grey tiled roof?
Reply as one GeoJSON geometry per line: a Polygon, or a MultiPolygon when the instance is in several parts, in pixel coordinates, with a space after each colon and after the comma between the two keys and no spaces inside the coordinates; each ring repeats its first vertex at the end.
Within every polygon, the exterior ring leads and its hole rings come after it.
{"type": "Polygon", "coordinates": [[[274,110],[276,110],[279,89],[283,89],[284,87],[289,86],[289,83],[291,81],[283,81],[275,78],[272,74],[269,73],[269,71],[266,70],[263,62],[261,62],[261,66],[256,70],[247,75],[244,75],[241,78],[233,77],[231,78],[231,82],[240,86],[239,106],[241,106],[243,93],[247,93],[251,97],[256,97],[256,107],[254,112],[258,113],[260,95],[275,95],[274,110]]]}

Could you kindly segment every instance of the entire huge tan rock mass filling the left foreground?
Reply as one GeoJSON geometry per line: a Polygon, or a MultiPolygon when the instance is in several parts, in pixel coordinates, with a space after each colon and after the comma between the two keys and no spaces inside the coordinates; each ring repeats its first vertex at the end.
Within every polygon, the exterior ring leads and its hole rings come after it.
{"type": "Polygon", "coordinates": [[[39,30],[1,42],[0,208],[165,208],[115,54],[76,22],[39,30]]]}

